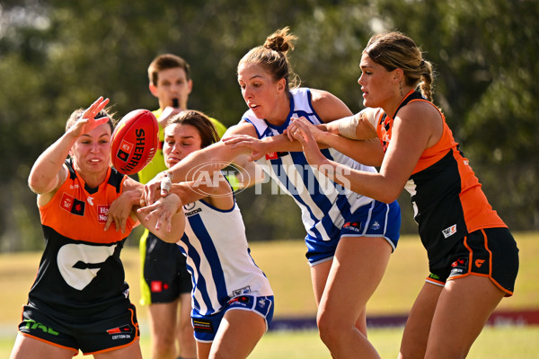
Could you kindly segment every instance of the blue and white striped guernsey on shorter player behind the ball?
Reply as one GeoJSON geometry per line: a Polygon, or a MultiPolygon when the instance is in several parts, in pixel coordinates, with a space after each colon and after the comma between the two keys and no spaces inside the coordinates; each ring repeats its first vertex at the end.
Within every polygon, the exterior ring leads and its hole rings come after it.
{"type": "Polygon", "coordinates": [[[239,207],[217,209],[203,200],[183,206],[185,235],[178,241],[193,282],[192,304],[211,315],[233,297],[270,296],[270,281],[251,257],[239,207]]]}

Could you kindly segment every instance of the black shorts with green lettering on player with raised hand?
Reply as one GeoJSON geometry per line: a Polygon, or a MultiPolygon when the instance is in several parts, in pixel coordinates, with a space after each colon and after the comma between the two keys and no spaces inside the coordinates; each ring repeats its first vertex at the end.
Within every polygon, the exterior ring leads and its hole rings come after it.
{"type": "Polygon", "coordinates": [[[61,320],[50,317],[47,311],[25,305],[19,332],[51,346],[79,349],[84,355],[94,355],[129,346],[140,337],[135,306],[106,320],[61,320]]]}

